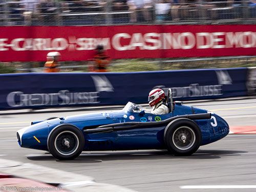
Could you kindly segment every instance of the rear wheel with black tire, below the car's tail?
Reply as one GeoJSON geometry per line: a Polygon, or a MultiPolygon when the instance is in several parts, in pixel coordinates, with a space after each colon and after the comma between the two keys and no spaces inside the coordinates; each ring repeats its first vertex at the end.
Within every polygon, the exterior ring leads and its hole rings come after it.
{"type": "Polygon", "coordinates": [[[189,156],[198,150],[202,133],[194,121],[176,119],[166,126],[164,141],[170,153],[176,156],[189,156]]]}

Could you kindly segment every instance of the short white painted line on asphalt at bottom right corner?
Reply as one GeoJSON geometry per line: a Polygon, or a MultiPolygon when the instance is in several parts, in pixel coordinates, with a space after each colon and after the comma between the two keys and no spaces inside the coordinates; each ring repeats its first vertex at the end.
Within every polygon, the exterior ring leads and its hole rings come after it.
{"type": "Polygon", "coordinates": [[[181,189],[230,189],[230,188],[256,188],[256,185],[184,185],[181,189]]]}

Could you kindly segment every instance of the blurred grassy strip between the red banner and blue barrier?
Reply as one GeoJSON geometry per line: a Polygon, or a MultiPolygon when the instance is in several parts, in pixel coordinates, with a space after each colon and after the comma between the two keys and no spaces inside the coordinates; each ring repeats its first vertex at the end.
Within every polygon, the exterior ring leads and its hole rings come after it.
{"type": "MultiPolygon", "coordinates": [[[[15,69],[16,73],[44,72],[44,62],[9,62],[5,66],[15,69]]],[[[90,72],[92,61],[62,61],[60,72],[90,72]]],[[[162,71],[182,69],[215,69],[255,67],[256,56],[232,56],[210,58],[164,58],[164,59],[118,59],[112,60],[109,72],[162,71]]],[[[1,73],[1,70],[0,70],[1,73]]]]}

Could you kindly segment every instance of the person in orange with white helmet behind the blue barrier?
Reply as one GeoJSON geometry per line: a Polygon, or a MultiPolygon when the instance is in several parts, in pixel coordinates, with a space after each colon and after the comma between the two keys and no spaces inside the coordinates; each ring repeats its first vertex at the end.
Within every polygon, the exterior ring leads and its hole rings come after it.
{"type": "Polygon", "coordinates": [[[60,60],[59,52],[49,52],[47,54],[47,61],[45,63],[44,72],[46,73],[59,72],[59,68],[58,68],[59,60],[60,60]]]}

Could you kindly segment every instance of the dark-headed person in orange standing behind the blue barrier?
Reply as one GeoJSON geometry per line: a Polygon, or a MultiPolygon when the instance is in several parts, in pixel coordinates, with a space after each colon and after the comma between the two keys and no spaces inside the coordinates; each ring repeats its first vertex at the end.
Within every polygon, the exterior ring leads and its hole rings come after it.
{"type": "Polygon", "coordinates": [[[105,53],[102,45],[98,45],[96,48],[94,63],[96,72],[108,72],[107,66],[110,65],[110,57],[105,53]]]}

